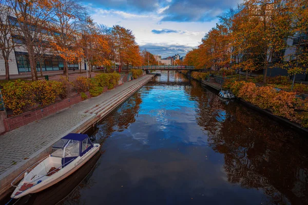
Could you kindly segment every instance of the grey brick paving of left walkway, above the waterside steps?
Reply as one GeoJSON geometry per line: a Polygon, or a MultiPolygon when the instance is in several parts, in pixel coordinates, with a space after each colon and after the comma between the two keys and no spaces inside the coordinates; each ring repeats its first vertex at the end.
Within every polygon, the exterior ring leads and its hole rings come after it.
{"type": "MultiPolygon", "coordinates": [[[[75,132],[80,126],[93,120],[95,114],[86,113],[87,110],[103,104],[108,100],[110,101],[113,96],[127,95],[127,90],[136,87],[138,84],[145,84],[152,76],[144,75],[103,93],[98,97],[84,100],[70,108],[66,108],[0,136],[0,185],[4,185],[1,181],[4,177],[8,178],[7,176],[11,172],[24,166],[27,161],[35,157],[35,154],[43,152],[55,141],[70,132],[75,132]]],[[[123,101],[124,99],[122,97],[114,100],[118,100],[118,104],[120,100],[123,101]]]]}

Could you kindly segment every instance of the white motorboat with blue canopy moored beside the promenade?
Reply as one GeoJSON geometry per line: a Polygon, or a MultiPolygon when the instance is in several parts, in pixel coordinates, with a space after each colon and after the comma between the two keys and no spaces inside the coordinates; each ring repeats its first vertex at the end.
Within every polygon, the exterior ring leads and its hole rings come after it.
{"type": "Polygon", "coordinates": [[[100,144],[92,144],[88,135],[75,133],[66,135],[52,146],[47,158],[36,162],[32,166],[34,168],[30,167],[23,172],[24,178],[17,187],[15,186],[16,189],[11,197],[20,198],[54,185],[82,167],[100,150],[100,147],[100,144]]]}

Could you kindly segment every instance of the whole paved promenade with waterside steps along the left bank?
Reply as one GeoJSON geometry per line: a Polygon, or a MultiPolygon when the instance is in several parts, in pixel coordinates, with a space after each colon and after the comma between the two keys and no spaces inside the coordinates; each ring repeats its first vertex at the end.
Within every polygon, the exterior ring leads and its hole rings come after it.
{"type": "Polygon", "coordinates": [[[50,146],[68,133],[81,133],[107,116],[154,75],[138,79],[86,99],[28,125],[0,136],[0,195],[11,181],[38,159],[48,154],[50,146]]]}

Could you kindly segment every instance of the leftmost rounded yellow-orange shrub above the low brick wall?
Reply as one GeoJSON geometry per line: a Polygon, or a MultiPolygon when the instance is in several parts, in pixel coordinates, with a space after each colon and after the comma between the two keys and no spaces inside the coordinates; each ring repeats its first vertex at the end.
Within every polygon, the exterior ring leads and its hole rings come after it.
{"type": "Polygon", "coordinates": [[[25,81],[8,81],[3,87],[2,95],[6,108],[11,109],[14,115],[22,113],[27,106],[35,105],[31,85],[25,81]]]}

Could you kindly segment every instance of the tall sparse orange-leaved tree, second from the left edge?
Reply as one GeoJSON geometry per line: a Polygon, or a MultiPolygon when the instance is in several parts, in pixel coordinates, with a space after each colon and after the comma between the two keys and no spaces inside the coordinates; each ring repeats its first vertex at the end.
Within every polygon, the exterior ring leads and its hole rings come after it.
{"type": "Polygon", "coordinates": [[[37,80],[34,48],[40,33],[45,32],[45,28],[49,26],[54,7],[46,0],[8,0],[8,5],[15,16],[11,19],[11,24],[15,27],[14,33],[20,37],[28,51],[32,80],[37,80]]]}

